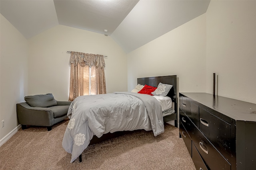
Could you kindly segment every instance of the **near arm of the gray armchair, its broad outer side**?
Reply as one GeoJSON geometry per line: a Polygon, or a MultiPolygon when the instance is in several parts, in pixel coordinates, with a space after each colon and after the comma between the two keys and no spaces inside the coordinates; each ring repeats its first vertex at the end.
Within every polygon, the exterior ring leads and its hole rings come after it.
{"type": "Polygon", "coordinates": [[[21,125],[52,126],[54,116],[47,107],[31,107],[26,102],[16,104],[18,123],[21,125]]]}

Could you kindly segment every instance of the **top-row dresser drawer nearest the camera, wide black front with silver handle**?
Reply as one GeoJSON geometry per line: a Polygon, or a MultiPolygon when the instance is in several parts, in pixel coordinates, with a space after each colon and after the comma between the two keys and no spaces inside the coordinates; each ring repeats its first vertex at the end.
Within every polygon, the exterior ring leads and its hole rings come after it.
{"type": "Polygon", "coordinates": [[[230,150],[231,125],[199,108],[199,129],[218,150],[230,150]]]}

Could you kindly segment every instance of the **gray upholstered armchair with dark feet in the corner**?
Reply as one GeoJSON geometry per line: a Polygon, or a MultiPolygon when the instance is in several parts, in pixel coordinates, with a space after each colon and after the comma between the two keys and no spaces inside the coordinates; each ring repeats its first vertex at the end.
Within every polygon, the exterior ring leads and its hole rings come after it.
{"type": "Polygon", "coordinates": [[[71,102],[57,101],[51,93],[25,96],[25,101],[16,104],[18,123],[22,129],[27,125],[46,126],[48,131],[52,125],[67,118],[71,102]]]}

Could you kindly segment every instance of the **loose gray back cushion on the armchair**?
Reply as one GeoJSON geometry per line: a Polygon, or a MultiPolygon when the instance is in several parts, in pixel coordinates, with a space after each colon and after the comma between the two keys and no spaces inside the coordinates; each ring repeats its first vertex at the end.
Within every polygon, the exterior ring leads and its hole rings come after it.
{"type": "Polygon", "coordinates": [[[50,107],[57,105],[57,102],[51,93],[25,96],[24,99],[31,107],[50,107]]]}

